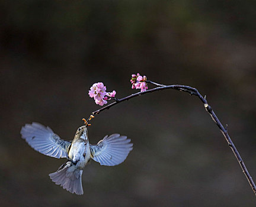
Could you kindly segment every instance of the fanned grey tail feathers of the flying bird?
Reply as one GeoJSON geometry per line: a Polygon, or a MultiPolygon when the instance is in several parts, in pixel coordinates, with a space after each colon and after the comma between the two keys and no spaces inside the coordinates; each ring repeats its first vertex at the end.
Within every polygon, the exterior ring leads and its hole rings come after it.
{"type": "Polygon", "coordinates": [[[67,161],[60,166],[57,172],[51,173],[49,176],[56,185],[62,186],[63,189],[77,195],[84,194],[82,189],[82,170],[75,169],[75,165],[71,161],[67,161]]]}

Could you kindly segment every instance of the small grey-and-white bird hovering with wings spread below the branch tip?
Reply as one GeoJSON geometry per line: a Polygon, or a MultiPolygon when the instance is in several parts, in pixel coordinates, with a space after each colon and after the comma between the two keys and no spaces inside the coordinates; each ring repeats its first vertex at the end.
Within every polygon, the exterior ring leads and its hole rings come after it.
{"type": "Polygon", "coordinates": [[[98,144],[89,144],[88,125],[82,125],[75,133],[73,141],[65,141],[50,127],[37,122],[25,124],[21,137],[34,150],[46,156],[68,159],[50,179],[76,195],[83,195],[82,172],[92,159],[103,166],[116,166],[123,163],[133,149],[133,143],[124,135],[106,135],[98,144]]]}

